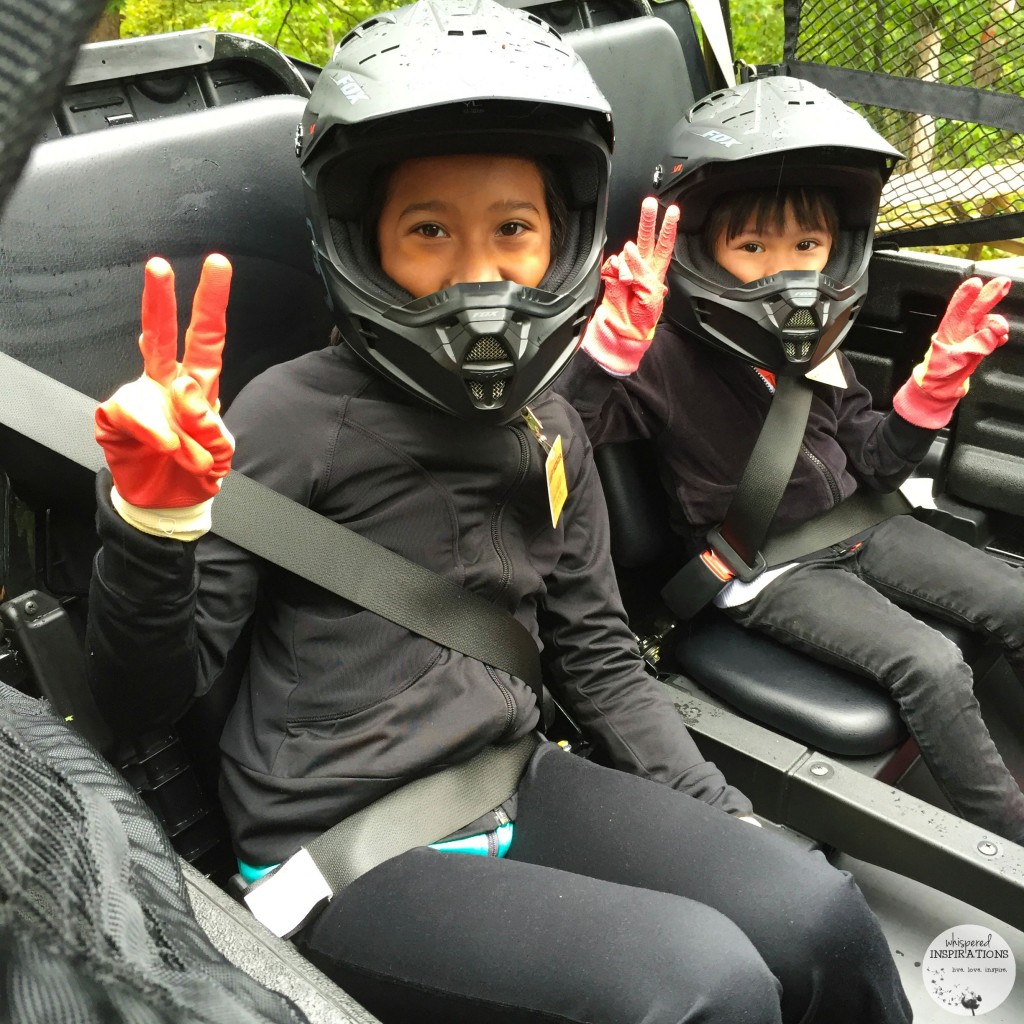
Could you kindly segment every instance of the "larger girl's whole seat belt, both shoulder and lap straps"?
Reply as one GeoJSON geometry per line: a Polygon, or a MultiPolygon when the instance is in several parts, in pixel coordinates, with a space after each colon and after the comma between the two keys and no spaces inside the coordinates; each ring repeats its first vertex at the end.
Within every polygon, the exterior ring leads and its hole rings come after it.
{"type": "MultiPolygon", "coordinates": [[[[0,352],[0,425],[91,472],[103,466],[93,432],[95,408],[94,399],[0,352]]],[[[213,528],[232,544],[524,680],[543,715],[540,653],[529,631],[511,613],[241,473],[226,477],[213,510],[213,528]]],[[[76,714],[72,722],[81,728],[98,713],[84,675],[70,678],[74,692],[44,688],[44,693],[55,707],[90,709],[94,714],[76,714]]],[[[435,843],[508,800],[538,742],[531,734],[485,748],[469,761],[375,801],[254,887],[262,895],[254,895],[251,909],[278,934],[291,934],[323,899],[359,873],[406,850],[435,843]],[[311,903],[310,888],[316,893],[311,903]]]]}

